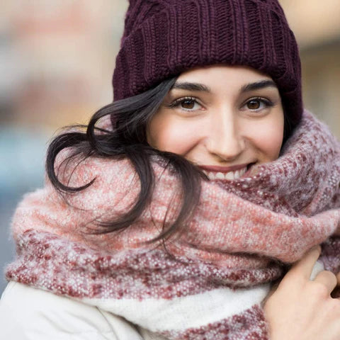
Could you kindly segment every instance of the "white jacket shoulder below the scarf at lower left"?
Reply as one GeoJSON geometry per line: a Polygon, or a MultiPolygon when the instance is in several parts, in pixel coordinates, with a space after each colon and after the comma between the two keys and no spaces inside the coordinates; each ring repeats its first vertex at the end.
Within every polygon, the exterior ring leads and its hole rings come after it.
{"type": "Polygon", "coordinates": [[[1,339],[142,339],[112,313],[14,281],[1,296],[0,323],[1,339]]]}

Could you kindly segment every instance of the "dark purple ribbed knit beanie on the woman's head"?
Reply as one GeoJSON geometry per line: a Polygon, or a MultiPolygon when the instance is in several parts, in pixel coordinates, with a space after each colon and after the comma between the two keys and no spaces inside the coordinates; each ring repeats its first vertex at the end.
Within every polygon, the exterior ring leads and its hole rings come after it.
{"type": "Polygon", "coordinates": [[[300,121],[299,50],[277,0],[130,0],[115,60],[114,101],[192,67],[221,63],[268,74],[293,125],[300,121]]]}

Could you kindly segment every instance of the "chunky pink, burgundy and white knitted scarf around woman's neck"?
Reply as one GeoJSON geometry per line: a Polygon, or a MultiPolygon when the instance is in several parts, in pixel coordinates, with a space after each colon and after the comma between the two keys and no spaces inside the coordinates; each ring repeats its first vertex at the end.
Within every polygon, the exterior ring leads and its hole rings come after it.
{"type": "Polygon", "coordinates": [[[171,169],[152,162],[154,195],[137,222],[94,235],[97,222],[131,208],[140,181],[127,159],[89,157],[74,169],[66,154],[57,159],[65,183],[96,180],[61,195],[46,178],[24,196],[8,280],[100,307],[159,339],[268,339],[262,302],[291,263],[322,244],[324,268],[339,271],[340,144],[307,110],[276,161],[249,178],[202,181],[193,219],[165,249],[143,242],[181,204],[171,169]]]}

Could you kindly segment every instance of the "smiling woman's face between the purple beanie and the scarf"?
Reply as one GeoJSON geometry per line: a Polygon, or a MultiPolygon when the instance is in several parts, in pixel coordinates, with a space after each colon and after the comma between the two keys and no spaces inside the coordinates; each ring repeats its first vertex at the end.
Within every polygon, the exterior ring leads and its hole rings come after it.
{"type": "MultiPolygon", "coordinates": [[[[179,76],[149,122],[147,141],[181,154],[210,179],[237,179],[253,164],[278,158],[283,125],[271,77],[251,67],[216,64],[179,76]]],[[[255,173],[251,167],[246,176],[255,173]]]]}

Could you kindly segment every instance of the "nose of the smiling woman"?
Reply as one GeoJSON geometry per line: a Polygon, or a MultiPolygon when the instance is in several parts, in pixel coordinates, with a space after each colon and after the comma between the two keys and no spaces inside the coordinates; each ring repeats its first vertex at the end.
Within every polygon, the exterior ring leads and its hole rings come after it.
{"type": "Polygon", "coordinates": [[[232,111],[220,111],[211,117],[206,147],[210,154],[228,162],[244,152],[246,143],[242,122],[232,111]]]}

